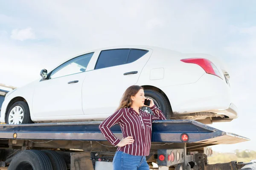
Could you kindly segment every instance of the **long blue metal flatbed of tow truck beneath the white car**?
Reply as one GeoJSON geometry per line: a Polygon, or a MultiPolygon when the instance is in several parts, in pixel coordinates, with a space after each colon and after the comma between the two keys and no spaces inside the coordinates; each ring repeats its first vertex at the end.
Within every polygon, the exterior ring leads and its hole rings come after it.
{"type": "MultiPolygon", "coordinates": [[[[0,138],[106,141],[98,128],[100,123],[101,121],[87,121],[0,125],[0,138]]],[[[114,125],[111,130],[116,137],[122,139],[119,125],[114,125]]],[[[180,136],[183,133],[189,136],[189,140],[186,142],[188,149],[189,147],[195,149],[196,146],[234,144],[250,140],[195,120],[157,120],[152,125],[151,141],[182,143],[180,136]],[[189,143],[191,144],[189,145],[189,143]]]]}

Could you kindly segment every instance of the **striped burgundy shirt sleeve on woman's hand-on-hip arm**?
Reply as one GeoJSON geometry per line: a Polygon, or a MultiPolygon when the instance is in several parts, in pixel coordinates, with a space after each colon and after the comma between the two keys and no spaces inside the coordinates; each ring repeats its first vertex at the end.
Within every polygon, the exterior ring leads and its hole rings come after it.
{"type": "Polygon", "coordinates": [[[122,119],[124,113],[124,108],[113,113],[107,119],[105,119],[100,125],[99,130],[105,136],[105,138],[110,142],[112,145],[117,146],[119,142],[121,142],[116,136],[111,132],[110,128],[115,125],[119,120],[122,119]]]}

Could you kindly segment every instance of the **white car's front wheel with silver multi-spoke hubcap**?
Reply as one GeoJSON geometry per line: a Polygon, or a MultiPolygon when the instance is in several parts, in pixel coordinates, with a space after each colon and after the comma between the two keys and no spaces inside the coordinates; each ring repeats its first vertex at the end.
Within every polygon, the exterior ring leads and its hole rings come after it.
{"type": "Polygon", "coordinates": [[[23,101],[15,102],[8,111],[6,123],[12,125],[33,123],[29,106],[23,101]]]}

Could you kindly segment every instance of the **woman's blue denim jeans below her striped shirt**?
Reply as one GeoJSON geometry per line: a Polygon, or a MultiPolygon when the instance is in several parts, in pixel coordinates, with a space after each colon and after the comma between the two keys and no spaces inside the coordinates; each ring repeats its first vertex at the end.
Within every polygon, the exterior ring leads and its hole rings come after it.
{"type": "Polygon", "coordinates": [[[145,156],[117,151],[113,158],[113,170],[149,170],[149,166],[145,156]]]}

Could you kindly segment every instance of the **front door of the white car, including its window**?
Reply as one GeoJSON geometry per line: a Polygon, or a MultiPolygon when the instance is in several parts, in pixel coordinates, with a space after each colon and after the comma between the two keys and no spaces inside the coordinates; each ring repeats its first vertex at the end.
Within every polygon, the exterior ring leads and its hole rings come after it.
{"type": "MultiPolygon", "coordinates": [[[[75,57],[55,68],[38,83],[33,95],[35,116],[82,115],[81,89],[93,53],[75,57]]],[[[67,117],[67,120],[69,117],[67,117]]]]}

